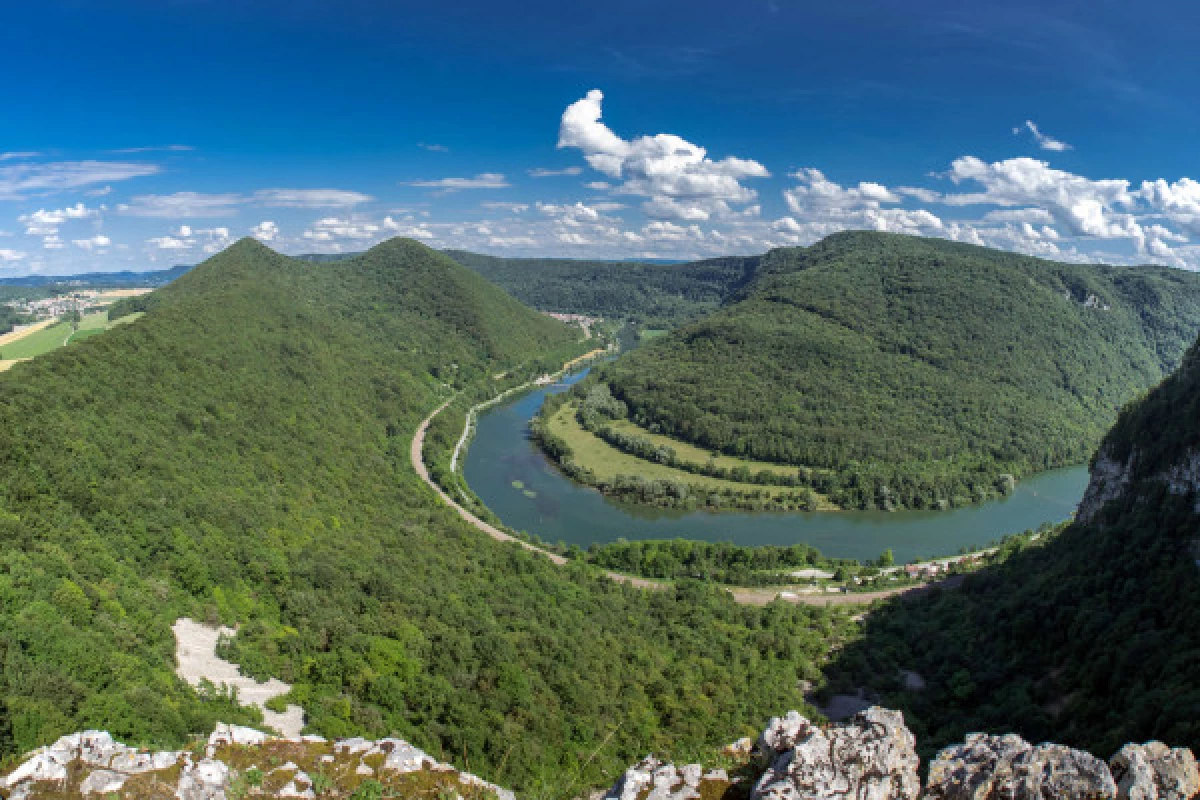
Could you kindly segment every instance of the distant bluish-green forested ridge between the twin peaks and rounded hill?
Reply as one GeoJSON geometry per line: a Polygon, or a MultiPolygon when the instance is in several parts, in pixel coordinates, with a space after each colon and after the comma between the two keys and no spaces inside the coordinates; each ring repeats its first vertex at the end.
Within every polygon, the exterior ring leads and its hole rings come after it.
{"type": "Polygon", "coordinates": [[[714,311],[755,275],[758,257],[686,264],[497,258],[446,251],[534,308],[673,327],[714,311]]]}

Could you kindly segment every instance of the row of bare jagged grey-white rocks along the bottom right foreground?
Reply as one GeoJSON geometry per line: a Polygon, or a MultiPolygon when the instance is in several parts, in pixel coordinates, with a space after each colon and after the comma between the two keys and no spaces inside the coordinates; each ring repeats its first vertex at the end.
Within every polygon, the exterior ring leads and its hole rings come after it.
{"type": "Polygon", "coordinates": [[[881,708],[832,726],[792,711],[773,718],[752,751],[748,744],[725,751],[745,764],[732,777],[647,758],[605,800],[726,796],[739,782],[738,796],[750,800],[1190,800],[1200,792],[1188,750],[1126,745],[1110,769],[1084,751],[1034,746],[1014,734],[971,734],[942,750],[922,792],[913,735],[899,711],[881,708]]]}

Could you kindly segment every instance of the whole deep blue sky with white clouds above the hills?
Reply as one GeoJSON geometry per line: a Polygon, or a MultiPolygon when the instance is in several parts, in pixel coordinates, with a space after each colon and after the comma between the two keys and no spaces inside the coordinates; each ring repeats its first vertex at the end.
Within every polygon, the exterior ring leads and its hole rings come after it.
{"type": "Polygon", "coordinates": [[[1200,267],[1188,2],[6,4],[0,275],[257,235],[691,258],[872,228],[1200,267]]]}

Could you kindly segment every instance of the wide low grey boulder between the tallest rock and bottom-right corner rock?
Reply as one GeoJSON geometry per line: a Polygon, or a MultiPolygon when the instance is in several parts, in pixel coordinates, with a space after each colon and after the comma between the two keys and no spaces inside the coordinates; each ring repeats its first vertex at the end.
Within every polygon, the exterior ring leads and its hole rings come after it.
{"type": "Polygon", "coordinates": [[[1062,745],[1030,745],[1015,734],[971,734],[929,765],[929,800],[1111,800],[1108,765],[1062,745]]]}

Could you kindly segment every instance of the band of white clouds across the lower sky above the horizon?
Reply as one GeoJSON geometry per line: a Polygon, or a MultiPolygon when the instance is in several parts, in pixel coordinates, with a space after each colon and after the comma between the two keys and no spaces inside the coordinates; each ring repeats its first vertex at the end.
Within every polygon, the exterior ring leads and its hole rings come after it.
{"type": "MultiPolygon", "coordinates": [[[[120,151],[146,156],[138,161],[0,154],[0,203],[19,207],[12,230],[0,217],[0,272],[155,269],[199,260],[244,235],[289,253],[356,251],[400,235],[512,255],[682,259],[808,245],[851,229],[1051,259],[1200,269],[1200,182],[1055,167],[1049,160],[1072,145],[1032,120],[1013,130],[1014,142],[1032,143],[1044,157],[962,154],[920,185],[889,186],[872,175],[839,182],[820,164],[773,172],[749,155],[710,155],[674,133],[619,133],[605,122],[604,101],[599,89],[588,91],[566,106],[557,142],[547,131],[546,157],[558,151],[577,163],[529,164],[522,178],[397,175],[394,197],[352,187],[136,191],[151,176],[172,179],[151,154],[198,158],[187,145],[120,151]],[[768,179],[784,185],[768,192],[768,179]],[[463,199],[480,196],[487,199],[463,199]]],[[[444,146],[416,146],[433,166],[448,157],[444,146]]]]}

